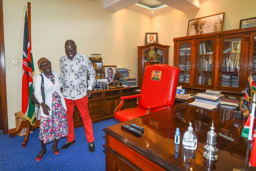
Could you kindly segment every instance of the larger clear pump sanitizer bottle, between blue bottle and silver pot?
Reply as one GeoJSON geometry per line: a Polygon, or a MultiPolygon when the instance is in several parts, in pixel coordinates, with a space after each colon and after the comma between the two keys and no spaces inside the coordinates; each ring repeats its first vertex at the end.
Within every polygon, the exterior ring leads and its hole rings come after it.
{"type": "Polygon", "coordinates": [[[187,131],[184,132],[182,144],[187,150],[196,150],[197,149],[197,135],[193,131],[192,123],[188,126],[187,131]]]}

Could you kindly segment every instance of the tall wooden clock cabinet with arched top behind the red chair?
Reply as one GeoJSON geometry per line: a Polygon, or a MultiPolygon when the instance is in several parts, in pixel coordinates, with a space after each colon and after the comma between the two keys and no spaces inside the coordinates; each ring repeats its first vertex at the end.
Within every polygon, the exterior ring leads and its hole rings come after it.
{"type": "Polygon", "coordinates": [[[168,45],[148,44],[138,47],[138,86],[142,86],[144,69],[147,65],[168,64],[168,45]]]}

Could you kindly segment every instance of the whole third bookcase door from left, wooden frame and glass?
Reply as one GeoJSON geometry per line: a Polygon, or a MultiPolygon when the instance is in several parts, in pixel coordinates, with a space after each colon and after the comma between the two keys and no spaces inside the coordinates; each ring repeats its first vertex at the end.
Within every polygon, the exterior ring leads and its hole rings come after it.
{"type": "Polygon", "coordinates": [[[245,34],[221,37],[218,88],[241,92],[246,88],[248,47],[245,34]]]}

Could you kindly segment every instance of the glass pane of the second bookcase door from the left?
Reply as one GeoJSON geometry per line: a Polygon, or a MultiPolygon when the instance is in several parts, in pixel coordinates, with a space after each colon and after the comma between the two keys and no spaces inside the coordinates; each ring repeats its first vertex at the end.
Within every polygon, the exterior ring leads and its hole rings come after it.
{"type": "Polygon", "coordinates": [[[199,41],[196,57],[196,84],[203,87],[212,86],[214,40],[199,41]]]}

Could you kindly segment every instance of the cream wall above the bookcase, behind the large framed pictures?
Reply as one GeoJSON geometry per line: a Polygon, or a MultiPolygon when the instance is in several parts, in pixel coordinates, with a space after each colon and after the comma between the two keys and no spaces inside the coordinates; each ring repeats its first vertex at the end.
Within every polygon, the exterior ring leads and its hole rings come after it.
{"type": "Polygon", "coordinates": [[[199,10],[182,13],[173,9],[153,17],[152,32],[158,33],[160,44],[170,45],[169,64],[173,65],[173,39],[186,36],[188,20],[224,12],[223,30],[237,29],[240,20],[256,17],[255,7],[255,0],[204,0],[199,10]]]}

